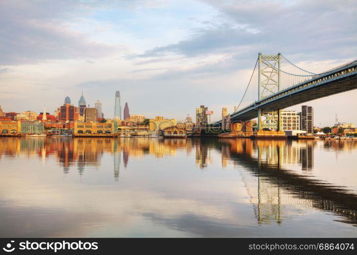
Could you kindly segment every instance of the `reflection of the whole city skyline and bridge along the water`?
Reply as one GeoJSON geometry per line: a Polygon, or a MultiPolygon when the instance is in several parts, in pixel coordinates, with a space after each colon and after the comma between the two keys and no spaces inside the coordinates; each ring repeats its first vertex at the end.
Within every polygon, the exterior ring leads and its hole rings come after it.
{"type": "MultiPolygon", "coordinates": [[[[113,157],[114,180],[120,179],[120,168],[130,159],[152,156],[175,157],[195,155],[200,170],[214,165],[221,155],[222,168],[231,165],[240,171],[248,194],[247,201],[259,224],[281,224],[284,220],[307,214],[311,209],[330,212],[338,221],[357,225],[355,190],[330,184],[312,176],[314,151],[355,151],[356,141],[291,141],[250,139],[147,139],[147,138],[1,138],[2,157],[38,157],[57,159],[64,174],[77,168],[99,168],[104,154],[113,157]],[[297,169],[297,167],[299,169],[297,169]]],[[[338,154],[336,154],[338,155],[338,154]]]]}

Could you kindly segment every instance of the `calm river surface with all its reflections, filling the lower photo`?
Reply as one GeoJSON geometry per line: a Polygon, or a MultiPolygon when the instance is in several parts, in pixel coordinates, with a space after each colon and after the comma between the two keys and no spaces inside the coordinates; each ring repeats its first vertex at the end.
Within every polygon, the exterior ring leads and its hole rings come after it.
{"type": "Polygon", "coordinates": [[[357,237],[357,141],[0,138],[1,237],[357,237]]]}

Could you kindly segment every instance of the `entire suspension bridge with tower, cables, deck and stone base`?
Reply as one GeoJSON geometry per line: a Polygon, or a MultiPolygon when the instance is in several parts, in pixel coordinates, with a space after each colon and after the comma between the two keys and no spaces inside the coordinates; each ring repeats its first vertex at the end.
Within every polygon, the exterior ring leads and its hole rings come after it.
{"type": "Polygon", "coordinates": [[[214,126],[231,129],[238,136],[285,136],[281,131],[282,109],[356,88],[357,60],[313,73],[294,65],[281,53],[259,53],[238,107],[214,126]],[[254,118],[258,118],[258,126],[253,134],[250,120],[254,118]]]}

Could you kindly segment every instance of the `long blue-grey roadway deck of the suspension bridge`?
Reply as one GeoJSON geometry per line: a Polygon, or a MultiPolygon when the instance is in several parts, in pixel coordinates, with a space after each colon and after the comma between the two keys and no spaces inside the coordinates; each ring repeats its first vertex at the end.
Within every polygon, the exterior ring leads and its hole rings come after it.
{"type": "MultiPolygon", "coordinates": [[[[280,110],[317,98],[357,89],[357,61],[318,74],[315,78],[256,101],[231,115],[231,121],[257,118],[258,109],[280,110]]],[[[221,125],[221,120],[214,123],[221,125]]]]}

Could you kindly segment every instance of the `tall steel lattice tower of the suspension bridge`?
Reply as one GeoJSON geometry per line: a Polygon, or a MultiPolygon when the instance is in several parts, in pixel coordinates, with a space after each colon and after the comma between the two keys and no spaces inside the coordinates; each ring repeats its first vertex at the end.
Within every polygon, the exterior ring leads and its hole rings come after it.
{"type": "MultiPolygon", "coordinates": [[[[258,100],[262,100],[281,89],[280,64],[282,55],[258,56],[258,100]]],[[[258,131],[269,129],[281,131],[281,110],[266,109],[258,110],[258,131]]],[[[284,133],[280,132],[281,135],[284,133]]],[[[284,133],[285,135],[285,133],[284,133]]]]}

